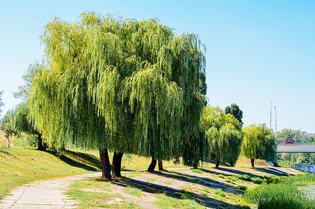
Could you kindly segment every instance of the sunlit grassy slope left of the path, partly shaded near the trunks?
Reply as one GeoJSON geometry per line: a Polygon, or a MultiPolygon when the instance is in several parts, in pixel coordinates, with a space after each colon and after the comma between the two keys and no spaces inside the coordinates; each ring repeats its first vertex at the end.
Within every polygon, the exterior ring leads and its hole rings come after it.
{"type": "Polygon", "coordinates": [[[48,151],[0,148],[0,164],[0,199],[23,183],[100,171],[97,157],[72,151],[58,156],[48,151]]]}

